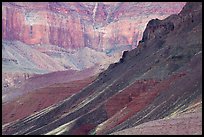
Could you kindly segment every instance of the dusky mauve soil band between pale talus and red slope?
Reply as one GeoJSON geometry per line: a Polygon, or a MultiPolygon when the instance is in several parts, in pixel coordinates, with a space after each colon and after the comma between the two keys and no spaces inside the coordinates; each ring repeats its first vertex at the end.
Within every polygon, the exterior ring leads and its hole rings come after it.
{"type": "Polygon", "coordinates": [[[4,92],[3,103],[12,101],[13,99],[20,97],[28,92],[35,92],[35,90],[43,87],[47,87],[56,83],[68,83],[71,81],[82,80],[99,73],[98,66],[93,66],[82,71],[67,70],[57,71],[42,75],[34,75],[27,79],[17,88],[11,89],[8,92],[4,92]]]}

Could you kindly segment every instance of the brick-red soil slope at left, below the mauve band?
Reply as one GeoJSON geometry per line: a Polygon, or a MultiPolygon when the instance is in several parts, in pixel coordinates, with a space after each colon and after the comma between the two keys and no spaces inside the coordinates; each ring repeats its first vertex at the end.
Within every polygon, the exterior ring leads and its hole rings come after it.
{"type": "Polygon", "coordinates": [[[79,92],[95,77],[84,80],[73,81],[70,83],[53,84],[48,87],[37,89],[20,98],[2,105],[3,124],[22,119],[59,101],[62,101],[71,95],[79,92]]]}

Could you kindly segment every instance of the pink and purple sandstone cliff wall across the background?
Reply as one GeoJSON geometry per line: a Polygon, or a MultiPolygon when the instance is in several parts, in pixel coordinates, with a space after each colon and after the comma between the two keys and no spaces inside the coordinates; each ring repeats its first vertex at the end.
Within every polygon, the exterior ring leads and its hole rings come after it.
{"type": "Polygon", "coordinates": [[[29,45],[96,50],[121,45],[135,48],[148,20],[178,13],[184,4],[3,3],[2,34],[4,40],[19,40],[29,45]]]}

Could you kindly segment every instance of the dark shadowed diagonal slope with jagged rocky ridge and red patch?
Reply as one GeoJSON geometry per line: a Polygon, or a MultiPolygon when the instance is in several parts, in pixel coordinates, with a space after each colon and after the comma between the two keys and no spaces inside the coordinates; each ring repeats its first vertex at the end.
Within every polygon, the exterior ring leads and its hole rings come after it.
{"type": "Polygon", "coordinates": [[[202,4],[187,3],[179,15],[151,20],[138,48],[91,85],[3,134],[110,134],[177,115],[201,100],[201,65],[202,4]]]}

